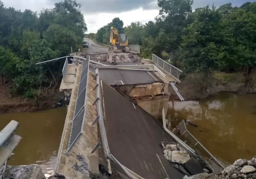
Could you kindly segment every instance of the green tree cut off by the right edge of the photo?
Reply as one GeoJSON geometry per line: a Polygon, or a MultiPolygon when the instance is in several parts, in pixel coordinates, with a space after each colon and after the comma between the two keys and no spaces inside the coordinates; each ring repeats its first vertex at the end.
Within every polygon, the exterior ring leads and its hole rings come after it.
{"type": "Polygon", "coordinates": [[[245,92],[256,90],[256,14],[237,9],[223,20],[225,59],[228,67],[242,69],[245,92]]]}

